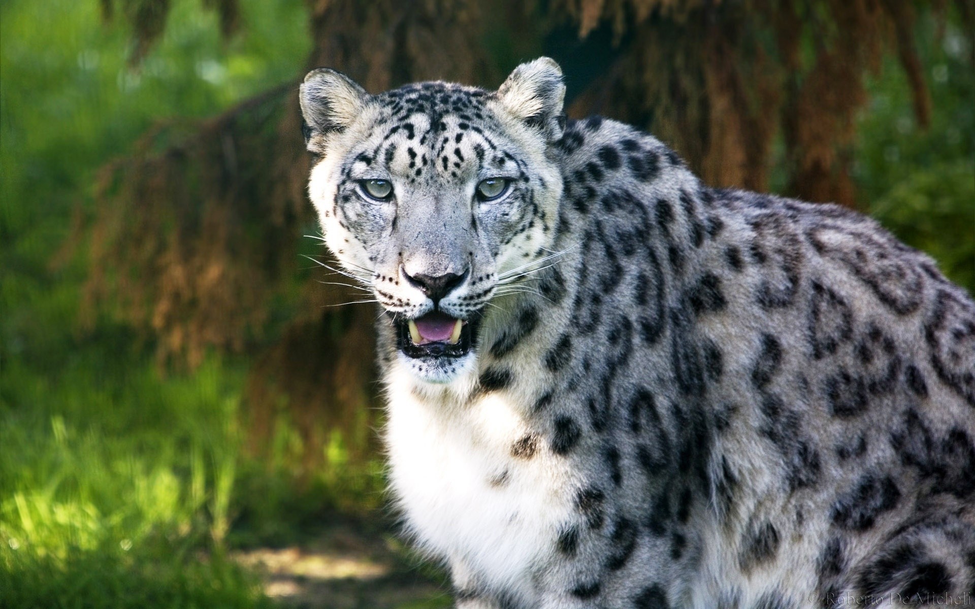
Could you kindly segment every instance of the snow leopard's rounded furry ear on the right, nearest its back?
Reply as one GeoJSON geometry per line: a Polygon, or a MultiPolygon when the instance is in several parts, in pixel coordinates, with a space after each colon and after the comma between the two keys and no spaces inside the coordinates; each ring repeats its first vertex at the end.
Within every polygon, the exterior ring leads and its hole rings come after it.
{"type": "Polygon", "coordinates": [[[542,130],[550,141],[565,131],[565,82],[562,68],[551,57],[538,57],[515,68],[497,90],[508,112],[542,130]]]}

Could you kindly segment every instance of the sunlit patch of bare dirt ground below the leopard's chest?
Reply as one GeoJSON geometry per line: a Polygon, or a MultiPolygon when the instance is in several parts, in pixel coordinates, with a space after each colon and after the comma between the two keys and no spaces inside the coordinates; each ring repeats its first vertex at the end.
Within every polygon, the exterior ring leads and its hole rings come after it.
{"type": "Polygon", "coordinates": [[[288,609],[450,607],[443,576],[390,533],[336,521],[299,546],[234,552],[260,574],[264,592],[288,609]]]}

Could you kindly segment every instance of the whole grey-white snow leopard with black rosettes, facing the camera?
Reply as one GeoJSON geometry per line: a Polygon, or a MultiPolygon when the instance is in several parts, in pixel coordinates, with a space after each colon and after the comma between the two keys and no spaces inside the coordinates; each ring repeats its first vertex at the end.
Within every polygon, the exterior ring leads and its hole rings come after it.
{"type": "Polygon", "coordinates": [[[975,603],[975,304],[876,221],[496,90],[300,85],[378,303],[389,484],[461,609],[975,603]]]}

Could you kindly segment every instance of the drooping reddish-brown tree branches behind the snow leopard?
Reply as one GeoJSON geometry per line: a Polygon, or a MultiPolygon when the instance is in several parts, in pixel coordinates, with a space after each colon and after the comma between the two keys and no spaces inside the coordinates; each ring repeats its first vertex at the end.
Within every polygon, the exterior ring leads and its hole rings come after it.
{"type": "MultiPolygon", "coordinates": [[[[101,2],[111,18],[112,0],[101,2]]],[[[162,32],[169,2],[122,4],[137,61],[162,32]]],[[[238,27],[233,0],[210,4],[226,32],[238,27]]],[[[918,122],[929,113],[915,9],[901,0],[308,0],[308,8],[307,68],[340,69],[372,92],[430,79],[495,87],[518,61],[545,53],[563,65],[570,116],[641,126],[716,186],[766,189],[778,137],[785,194],[852,206],[853,119],[884,54],[908,73],[918,122]]],[[[970,24],[967,0],[958,10],[970,24]]],[[[162,125],[106,167],[89,295],[93,305],[121,303],[156,336],[160,362],[192,366],[212,348],[259,354],[247,390],[252,448],[265,450],[287,414],[311,471],[333,429],[354,451],[367,448],[375,313],[334,306],[356,297],[313,281],[331,281],[324,268],[295,279],[299,250],[309,249],[301,235],[317,232],[296,89],[200,124],[162,125]]],[[[324,247],[313,253],[332,265],[324,247]]]]}

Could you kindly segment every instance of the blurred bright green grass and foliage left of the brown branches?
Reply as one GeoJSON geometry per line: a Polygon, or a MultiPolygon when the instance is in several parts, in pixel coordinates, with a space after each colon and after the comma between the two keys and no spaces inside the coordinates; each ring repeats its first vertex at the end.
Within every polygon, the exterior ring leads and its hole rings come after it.
{"type": "Polygon", "coordinates": [[[163,378],[110,311],[79,324],[84,247],[66,245],[99,166],[155,121],[295,79],[309,53],[300,0],[243,2],[230,40],[201,3],[174,5],[137,68],[97,2],[0,5],[0,606],[269,604],[223,558],[253,469],[247,362],[163,378]]]}

